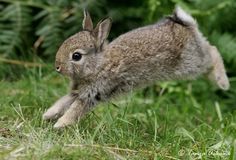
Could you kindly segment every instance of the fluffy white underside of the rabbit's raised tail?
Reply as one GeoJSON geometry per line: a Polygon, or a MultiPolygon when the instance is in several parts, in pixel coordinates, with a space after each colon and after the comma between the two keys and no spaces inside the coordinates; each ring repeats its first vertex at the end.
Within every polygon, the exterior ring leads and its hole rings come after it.
{"type": "Polygon", "coordinates": [[[197,26],[195,19],[179,6],[176,6],[172,19],[184,26],[197,26]]]}

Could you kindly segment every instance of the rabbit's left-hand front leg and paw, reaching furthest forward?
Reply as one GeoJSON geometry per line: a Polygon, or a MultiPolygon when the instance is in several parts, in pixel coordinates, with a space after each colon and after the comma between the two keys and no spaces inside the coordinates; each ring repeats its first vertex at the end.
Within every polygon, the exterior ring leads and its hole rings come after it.
{"type": "Polygon", "coordinates": [[[62,116],[65,111],[70,107],[74,102],[75,98],[71,95],[65,95],[59,100],[57,100],[44,114],[44,120],[57,119],[62,116]]]}

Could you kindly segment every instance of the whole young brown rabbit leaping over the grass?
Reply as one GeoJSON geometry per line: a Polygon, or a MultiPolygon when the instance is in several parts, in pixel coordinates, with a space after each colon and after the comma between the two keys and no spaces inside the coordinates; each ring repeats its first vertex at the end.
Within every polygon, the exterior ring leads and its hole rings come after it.
{"type": "Polygon", "coordinates": [[[160,22],[106,39],[111,19],[95,28],[84,11],[83,30],[68,38],[56,55],[56,71],[71,79],[71,92],[59,99],[43,119],[59,118],[54,128],[80,120],[99,102],[155,81],[194,79],[207,75],[229,88],[222,58],[202,36],[196,21],[176,7],[160,22]]]}

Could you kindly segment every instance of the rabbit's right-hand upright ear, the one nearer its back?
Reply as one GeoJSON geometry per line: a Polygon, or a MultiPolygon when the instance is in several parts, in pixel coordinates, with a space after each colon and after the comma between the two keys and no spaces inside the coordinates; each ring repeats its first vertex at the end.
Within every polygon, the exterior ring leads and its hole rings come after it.
{"type": "Polygon", "coordinates": [[[111,29],[111,23],[111,18],[106,18],[98,22],[96,28],[93,31],[94,36],[97,38],[97,47],[101,47],[104,41],[107,39],[111,29]]]}

